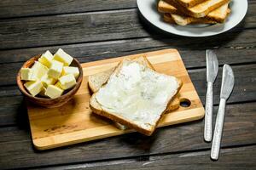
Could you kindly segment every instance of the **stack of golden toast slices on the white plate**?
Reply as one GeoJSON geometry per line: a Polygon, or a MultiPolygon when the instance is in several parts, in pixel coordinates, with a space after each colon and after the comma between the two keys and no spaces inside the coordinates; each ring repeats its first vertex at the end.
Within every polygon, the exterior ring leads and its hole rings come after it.
{"type": "Polygon", "coordinates": [[[158,11],[168,23],[189,24],[223,23],[231,10],[230,0],[160,0],[158,11]]]}

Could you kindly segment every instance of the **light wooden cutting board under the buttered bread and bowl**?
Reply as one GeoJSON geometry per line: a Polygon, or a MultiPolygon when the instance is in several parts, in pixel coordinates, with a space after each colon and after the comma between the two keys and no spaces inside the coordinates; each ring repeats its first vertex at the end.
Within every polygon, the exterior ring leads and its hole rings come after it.
{"type": "MultiPolygon", "coordinates": [[[[156,71],[180,78],[183,81],[183,87],[178,97],[181,101],[190,102],[189,107],[180,106],[177,110],[166,113],[158,127],[201,119],[205,113],[203,105],[177,50],[165,49],[125,57],[133,58],[140,55],[146,55],[156,71]]],[[[67,105],[46,109],[27,102],[32,143],[36,149],[47,150],[134,132],[132,129],[119,130],[113,125],[113,122],[93,114],[89,107],[88,76],[108,70],[123,58],[104,59],[82,64],[84,68],[82,85],[67,105]]]]}

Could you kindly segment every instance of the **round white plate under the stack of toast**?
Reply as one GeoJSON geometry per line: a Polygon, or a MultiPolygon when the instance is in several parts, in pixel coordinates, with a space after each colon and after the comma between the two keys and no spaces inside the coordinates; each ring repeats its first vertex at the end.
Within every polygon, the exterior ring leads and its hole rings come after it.
{"type": "Polygon", "coordinates": [[[137,7],[141,14],[154,26],[161,30],[185,37],[208,37],[229,31],[238,25],[247,14],[247,0],[232,0],[230,2],[231,14],[224,24],[177,26],[166,23],[157,11],[158,0],[137,0],[137,7]]]}

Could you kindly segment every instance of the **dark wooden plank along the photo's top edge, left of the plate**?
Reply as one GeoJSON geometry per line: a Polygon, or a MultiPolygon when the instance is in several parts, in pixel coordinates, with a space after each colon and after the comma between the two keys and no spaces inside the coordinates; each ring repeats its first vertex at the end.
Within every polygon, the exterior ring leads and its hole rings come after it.
{"type": "Polygon", "coordinates": [[[136,7],[136,0],[2,0],[0,1],[0,18],[45,14],[81,13],[136,7]]]}

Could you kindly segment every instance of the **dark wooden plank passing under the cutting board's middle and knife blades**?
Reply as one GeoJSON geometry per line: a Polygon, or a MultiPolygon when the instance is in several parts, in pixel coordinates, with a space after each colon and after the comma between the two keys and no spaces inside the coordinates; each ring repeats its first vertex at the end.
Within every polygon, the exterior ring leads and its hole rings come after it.
{"type": "MultiPolygon", "coordinates": [[[[1,68],[1,67],[0,67],[1,68]]],[[[235,65],[233,66],[236,85],[233,94],[230,96],[228,103],[246,102],[256,100],[255,72],[256,65],[235,65]],[[246,75],[246,76],[245,76],[246,75]]],[[[218,78],[214,84],[214,103],[218,104],[221,87],[222,69],[219,70],[218,78]]],[[[189,75],[195,85],[201,101],[205,102],[206,94],[206,71],[205,69],[189,70],[189,75]]],[[[11,75],[9,75],[9,78],[11,75]]],[[[3,79],[3,77],[0,77],[3,79]]],[[[4,79],[8,81],[8,78],[4,79]]],[[[0,81],[1,82],[1,81],[0,81]]],[[[1,88],[0,88],[1,89],[1,88]]],[[[25,106],[22,105],[23,98],[16,86],[3,87],[3,97],[0,97],[0,126],[14,125],[20,112],[26,112],[25,106]],[[8,95],[9,94],[9,95],[8,95]],[[22,109],[23,108],[23,109],[22,109]]],[[[0,94],[2,92],[0,91],[0,94]]]]}

